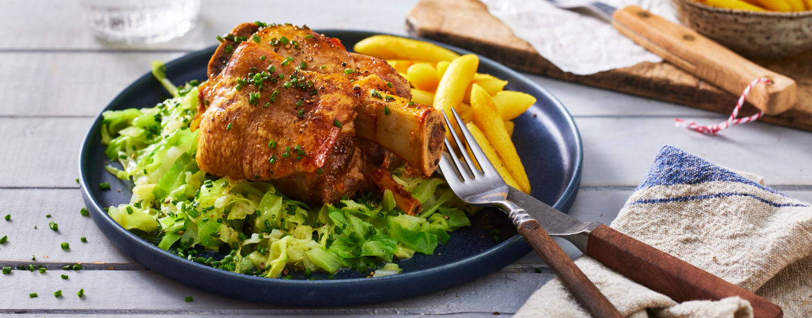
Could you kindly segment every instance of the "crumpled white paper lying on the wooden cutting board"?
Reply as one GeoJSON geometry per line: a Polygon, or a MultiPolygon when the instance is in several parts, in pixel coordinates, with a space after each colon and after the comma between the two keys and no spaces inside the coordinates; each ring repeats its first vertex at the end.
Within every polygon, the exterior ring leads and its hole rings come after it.
{"type": "MultiPolygon", "coordinates": [[[[546,0],[480,0],[491,15],[507,24],[516,37],[533,45],[562,71],[590,75],[641,62],[662,62],[621,35],[607,21],[554,6],[546,0]]],[[[559,0],[580,1],[580,0],[559,0]]],[[[602,0],[615,8],[640,6],[676,22],[669,0],[602,0]]],[[[677,22],[678,23],[678,22],[677,22]]]]}

